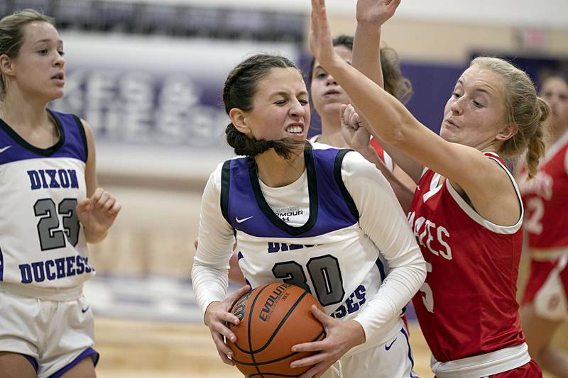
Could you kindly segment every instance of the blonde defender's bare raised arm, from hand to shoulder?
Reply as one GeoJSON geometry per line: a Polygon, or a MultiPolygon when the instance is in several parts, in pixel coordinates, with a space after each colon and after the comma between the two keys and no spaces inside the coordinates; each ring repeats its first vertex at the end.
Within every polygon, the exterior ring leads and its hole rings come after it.
{"type": "MultiPolygon", "coordinates": [[[[488,221],[503,226],[516,223],[520,206],[513,184],[503,169],[476,148],[440,138],[417,121],[395,97],[344,62],[332,48],[325,1],[312,0],[312,7],[312,53],[346,91],[368,120],[368,126],[386,143],[449,179],[457,191],[465,191],[474,209],[488,221]]],[[[488,145],[492,143],[488,142],[488,145]]]]}

